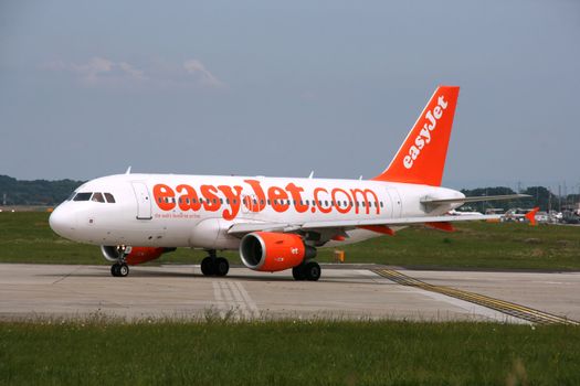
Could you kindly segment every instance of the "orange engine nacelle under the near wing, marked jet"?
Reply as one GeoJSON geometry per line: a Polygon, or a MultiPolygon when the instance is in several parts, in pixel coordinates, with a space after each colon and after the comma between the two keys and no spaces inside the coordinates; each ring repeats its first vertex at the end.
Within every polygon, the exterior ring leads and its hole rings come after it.
{"type": "Polygon", "coordinates": [[[240,257],[253,270],[275,272],[299,266],[305,258],[316,256],[316,249],[307,246],[294,234],[254,232],[240,243],[240,257]]]}

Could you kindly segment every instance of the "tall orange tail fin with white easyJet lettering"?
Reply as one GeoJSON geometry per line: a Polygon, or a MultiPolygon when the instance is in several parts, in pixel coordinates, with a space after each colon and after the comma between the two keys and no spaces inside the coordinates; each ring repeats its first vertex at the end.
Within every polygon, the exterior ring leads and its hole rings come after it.
{"type": "Polygon", "coordinates": [[[372,180],[440,186],[460,87],[440,86],[389,167],[372,180]]]}

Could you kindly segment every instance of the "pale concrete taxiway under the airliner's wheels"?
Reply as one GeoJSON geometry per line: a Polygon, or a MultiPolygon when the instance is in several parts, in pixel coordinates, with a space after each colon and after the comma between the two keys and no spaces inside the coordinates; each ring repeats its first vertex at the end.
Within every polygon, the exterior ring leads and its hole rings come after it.
{"type": "MultiPolygon", "coordinates": [[[[580,320],[580,272],[412,271],[405,275],[580,320]]],[[[0,264],[0,319],[397,319],[524,322],[368,269],[329,269],[318,282],[291,272],[232,268],[226,278],[199,266],[131,267],[114,278],[107,266],[0,264]]]]}

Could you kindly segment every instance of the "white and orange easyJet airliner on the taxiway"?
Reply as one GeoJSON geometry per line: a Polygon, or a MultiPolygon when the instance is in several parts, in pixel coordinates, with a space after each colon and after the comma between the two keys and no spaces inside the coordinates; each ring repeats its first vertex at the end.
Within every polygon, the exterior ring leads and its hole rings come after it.
{"type": "Polygon", "coordinates": [[[450,216],[467,202],[527,195],[466,197],[441,186],[460,87],[440,86],[384,171],[370,180],[130,173],[86,182],[50,216],[71,240],[101,246],[126,277],[128,265],[188,247],[208,253],[204,276],[223,277],[239,250],[245,267],[292,269],[316,281],[319,247],[362,242],[412,225],[453,230],[452,223],[498,215],[450,216]]]}

